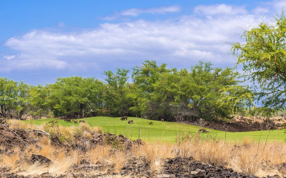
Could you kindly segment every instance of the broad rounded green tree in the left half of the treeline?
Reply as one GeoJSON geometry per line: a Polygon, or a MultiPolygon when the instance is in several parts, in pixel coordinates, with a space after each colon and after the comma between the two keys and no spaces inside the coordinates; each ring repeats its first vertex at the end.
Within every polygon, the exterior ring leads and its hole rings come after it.
{"type": "Polygon", "coordinates": [[[93,77],[71,76],[57,78],[55,84],[49,84],[48,103],[57,116],[96,114],[103,105],[103,83],[93,77]]]}

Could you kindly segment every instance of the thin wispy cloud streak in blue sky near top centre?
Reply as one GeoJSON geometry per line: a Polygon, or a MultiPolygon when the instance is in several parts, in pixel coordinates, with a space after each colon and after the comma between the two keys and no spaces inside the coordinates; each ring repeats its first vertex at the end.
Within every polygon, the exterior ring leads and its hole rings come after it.
{"type": "Polygon", "coordinates": [[[149,13],[149,14],[165,14],[167,12],[179,12],[181,7],[179,5],[171,5],[171,6],[163,6],[163,7],[154,7],[149,9],[138,9],[132,8],[127,10],[122,10],[120,12],[116,12],[110,16],[103,17],[103,20],[114,20],[120,16],[138,16],[140,14],[149,13]]]}

